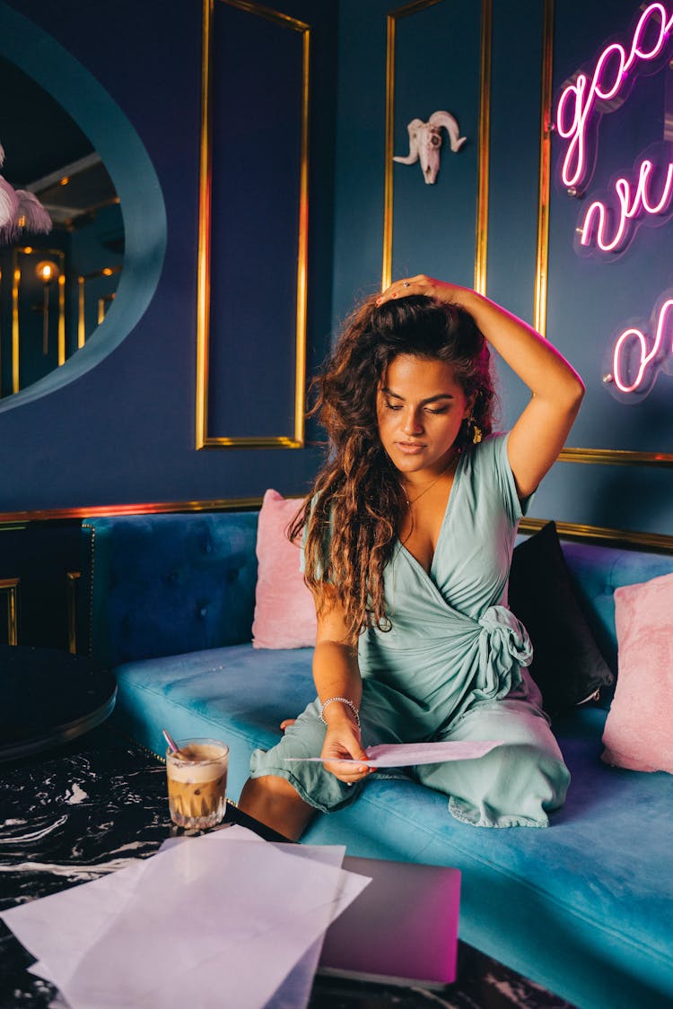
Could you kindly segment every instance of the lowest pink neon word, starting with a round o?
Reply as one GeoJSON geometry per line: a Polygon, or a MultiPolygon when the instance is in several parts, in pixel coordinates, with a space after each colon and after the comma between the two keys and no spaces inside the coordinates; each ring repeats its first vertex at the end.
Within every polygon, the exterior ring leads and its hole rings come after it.
{"type": "Polygon", "coordinates": [[[647,396],[660,370],[673,373],[672,310],[673,299],[661,303],[658,314],[655,313],[653,341],[648,340],[642,329],[632,327],[625,329],[614,343],[612,373],[605,380],[613,382],[615,389],[629,400],[633,400],[633,394],[640,394],[641,399],[647,396]]]}

